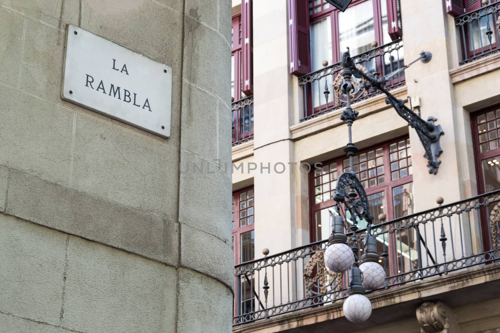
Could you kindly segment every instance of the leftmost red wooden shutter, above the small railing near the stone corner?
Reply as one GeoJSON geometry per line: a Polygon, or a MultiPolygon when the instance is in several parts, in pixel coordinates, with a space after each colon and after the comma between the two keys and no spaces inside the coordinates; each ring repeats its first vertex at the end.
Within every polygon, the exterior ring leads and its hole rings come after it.
{"type": "Polygon", "coordinates": [[[241,3],[241,25],[243,33],[243,89],[245,95],[253,95],[253,3],[243,0],[241,3]]]}

